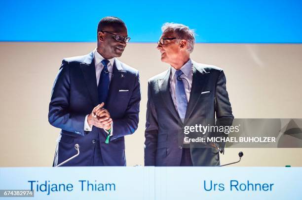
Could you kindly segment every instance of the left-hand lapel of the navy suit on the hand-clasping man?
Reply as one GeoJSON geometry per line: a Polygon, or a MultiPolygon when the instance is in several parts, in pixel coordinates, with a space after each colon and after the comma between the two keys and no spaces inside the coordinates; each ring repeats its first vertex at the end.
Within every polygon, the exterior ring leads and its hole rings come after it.
{"type": "Polygon", "coordinates": [[[96,106],[98,104],[98,88],[95,75],[93,52],[87,55],[83,63],[80,63],[80,68],[84,76],[90,99],[93,105],[96,106]]]}

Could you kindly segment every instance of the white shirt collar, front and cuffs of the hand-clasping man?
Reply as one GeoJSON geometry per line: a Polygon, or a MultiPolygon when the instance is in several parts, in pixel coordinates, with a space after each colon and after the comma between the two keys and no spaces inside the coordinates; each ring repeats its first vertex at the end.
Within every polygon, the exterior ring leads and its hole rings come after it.
{"type": "MultiPolygon", "coordinates": [[[[102,64],[102,60],[104,60],[105,58],[102,57],[102,55],[95,49],[93,51],[93,55],[94,55],[94,65],[95,65],[95,75],[96,75],[96,79],[97,79],[97,86],[99,86],[99,81],[100,81],[100,75],[101,72],[104,68],[104,65],[102,64]]],[[[109,82],[111,82],[111,78],[112,78],[112,74],[113,74],[113,63],[114,63],[114,57],[109,59],[109,63],[107,64],[107,68],[109,71],[109,82]]],[[[85,131],[92,131],[92,126],[89,126],[88,124],[88,115],[86,115],[85,117],[85,121],[84,121],[84,130],[85,131]]],[[[104,129],[105,130],[105,129],[104,129]]],[[[109,134],[109,132],[107,130],[105,130],[107,134],[109,134]]],[[[113,122],[111,123],[111,132],[110,135],[113,135],[113,122]]]]}

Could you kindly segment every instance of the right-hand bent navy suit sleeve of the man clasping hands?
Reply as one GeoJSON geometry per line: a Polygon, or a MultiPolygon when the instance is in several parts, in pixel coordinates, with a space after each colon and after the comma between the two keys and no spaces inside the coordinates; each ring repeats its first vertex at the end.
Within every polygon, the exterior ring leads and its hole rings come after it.
{"type": "Polygon", "coordinates": [[[137,72],[134,81],[133,92],[130,97],[127,110],[122,118],[113,119],[114,133],[111,141],[117,138],[133,134],[139,122],[141,101],[141,89],[139,73],[137,72]]]}

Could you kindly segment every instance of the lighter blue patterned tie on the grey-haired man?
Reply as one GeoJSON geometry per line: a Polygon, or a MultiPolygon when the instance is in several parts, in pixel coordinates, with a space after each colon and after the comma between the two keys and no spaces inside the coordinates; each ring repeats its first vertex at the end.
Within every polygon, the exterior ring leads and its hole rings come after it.
{"type": "Polygon", "coordinates": [[[184,83],[183,80],[180,78],[182,74],[183,72],[180,69],[176,70],[175,72],[175,76],[176,76],[175,95],[176,95],[177,111],[180,118],[183,121],[183,119],[186,116],[188,102],[187,102],[184,83]]]}

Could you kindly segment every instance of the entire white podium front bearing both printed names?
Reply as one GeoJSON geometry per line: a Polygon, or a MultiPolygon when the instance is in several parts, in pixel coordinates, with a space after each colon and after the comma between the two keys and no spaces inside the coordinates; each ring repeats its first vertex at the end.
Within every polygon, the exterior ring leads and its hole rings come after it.
{"type": "Polygon", "coordinates": [[[301,200],[301,187],[302,168],[0,168],[0,190],[34,190],[35,200],[301,200]]]}

